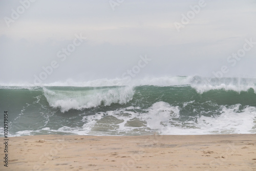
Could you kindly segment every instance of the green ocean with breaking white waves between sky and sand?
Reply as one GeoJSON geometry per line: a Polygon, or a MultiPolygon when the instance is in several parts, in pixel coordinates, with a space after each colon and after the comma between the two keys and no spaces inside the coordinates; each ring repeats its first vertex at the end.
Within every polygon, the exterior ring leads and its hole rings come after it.
{"type": "Polygon", "coordinates": [[[0,84],[0,136],[256,133],[256,79],[176,76],[0,84]]]}

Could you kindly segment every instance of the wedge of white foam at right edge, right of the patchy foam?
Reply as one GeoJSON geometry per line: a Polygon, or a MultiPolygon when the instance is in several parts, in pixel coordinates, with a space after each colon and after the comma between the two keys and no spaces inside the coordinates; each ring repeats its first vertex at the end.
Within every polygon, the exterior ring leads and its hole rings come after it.
{"type": "MultiPolygon", "coordinates": [[[[239,111],[240,104],[221,106],[220,115],[200,116],[197,121],[186,123],[186,127],[168,125],[161,128],[163,135],[202,134],[252,134],[256,133],[256,108],[247,106],[239,111]]],[[[183,123],[184,124],[184,123],[183,123]]]]}

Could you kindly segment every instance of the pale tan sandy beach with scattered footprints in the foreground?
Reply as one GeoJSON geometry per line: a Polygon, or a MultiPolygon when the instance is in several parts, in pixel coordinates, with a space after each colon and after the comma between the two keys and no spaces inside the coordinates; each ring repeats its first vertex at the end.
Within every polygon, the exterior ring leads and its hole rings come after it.
{"type": "Polygon", "coordinates": [[[10,137],[0,170],[256,170],[256,135],[10,137]]]}

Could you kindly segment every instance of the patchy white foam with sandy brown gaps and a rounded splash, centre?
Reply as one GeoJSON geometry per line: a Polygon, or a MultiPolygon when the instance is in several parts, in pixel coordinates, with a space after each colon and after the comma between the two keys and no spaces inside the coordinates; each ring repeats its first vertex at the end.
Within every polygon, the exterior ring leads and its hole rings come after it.
{"type": "Polygon", "coordinates": [[[140,130],[141,132],[160,130],[171,119],[179,118],[178,106],[171,106],[169,103],[163,101],[156,102],[150,108],[142,110],[144,111],[143,113],[136,112],[135,110],[140,110],[140,108],[129,106],[116,111],[100,112],[95,115],[84,116],[82,121],[87,123],[83,125],[83,129],[90,128],[90,133],[95,135],[97,134],[96,130],[98,130],[97,126],[99,126],[97,124],[104,123],[112,126],[117,125],[116,129],[113,130],[116,134],[134,134],[136,133],[135,130],[140,130]],[[112,121],[110,121],[110,116],[114,117],[112,121]],[[137,120],[137,124],[140,122],[140,126],[131,126],[128,123],[134,120],[137,120]],[[113,124],[113,122],[116,122],[116,124],[113,124]]]}

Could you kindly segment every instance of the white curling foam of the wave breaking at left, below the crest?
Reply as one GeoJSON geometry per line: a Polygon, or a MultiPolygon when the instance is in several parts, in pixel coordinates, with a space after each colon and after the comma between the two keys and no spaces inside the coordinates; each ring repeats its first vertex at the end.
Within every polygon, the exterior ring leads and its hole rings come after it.
{"type": "Polygon", "coordinates": [[[95,108],[102,103],[105,106],[109,106],[112,103],[124,104],[132,100],[134,91],[133,87],[81,91],[60,91],[44,88],[44,95],[50,106],[60,108],[61,112],[66,112],[70,109],[95,108]]]}

